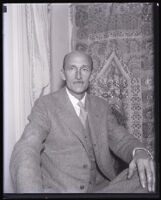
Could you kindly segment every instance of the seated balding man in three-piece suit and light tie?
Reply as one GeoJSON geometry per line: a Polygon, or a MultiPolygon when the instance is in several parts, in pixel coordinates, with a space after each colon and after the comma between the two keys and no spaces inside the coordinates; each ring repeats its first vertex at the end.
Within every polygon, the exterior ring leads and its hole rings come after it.
{"type": "Polygon", "coordinates": [[[64,58],[66,86],[39,98],[16,143],[10,172],[17,193],[147,193],[154,191],[150,153],[117,124],[105,100],[87,94],[93,63],[64,58]],[[110,151],[129,164],[116,175],[110,151]]]}

